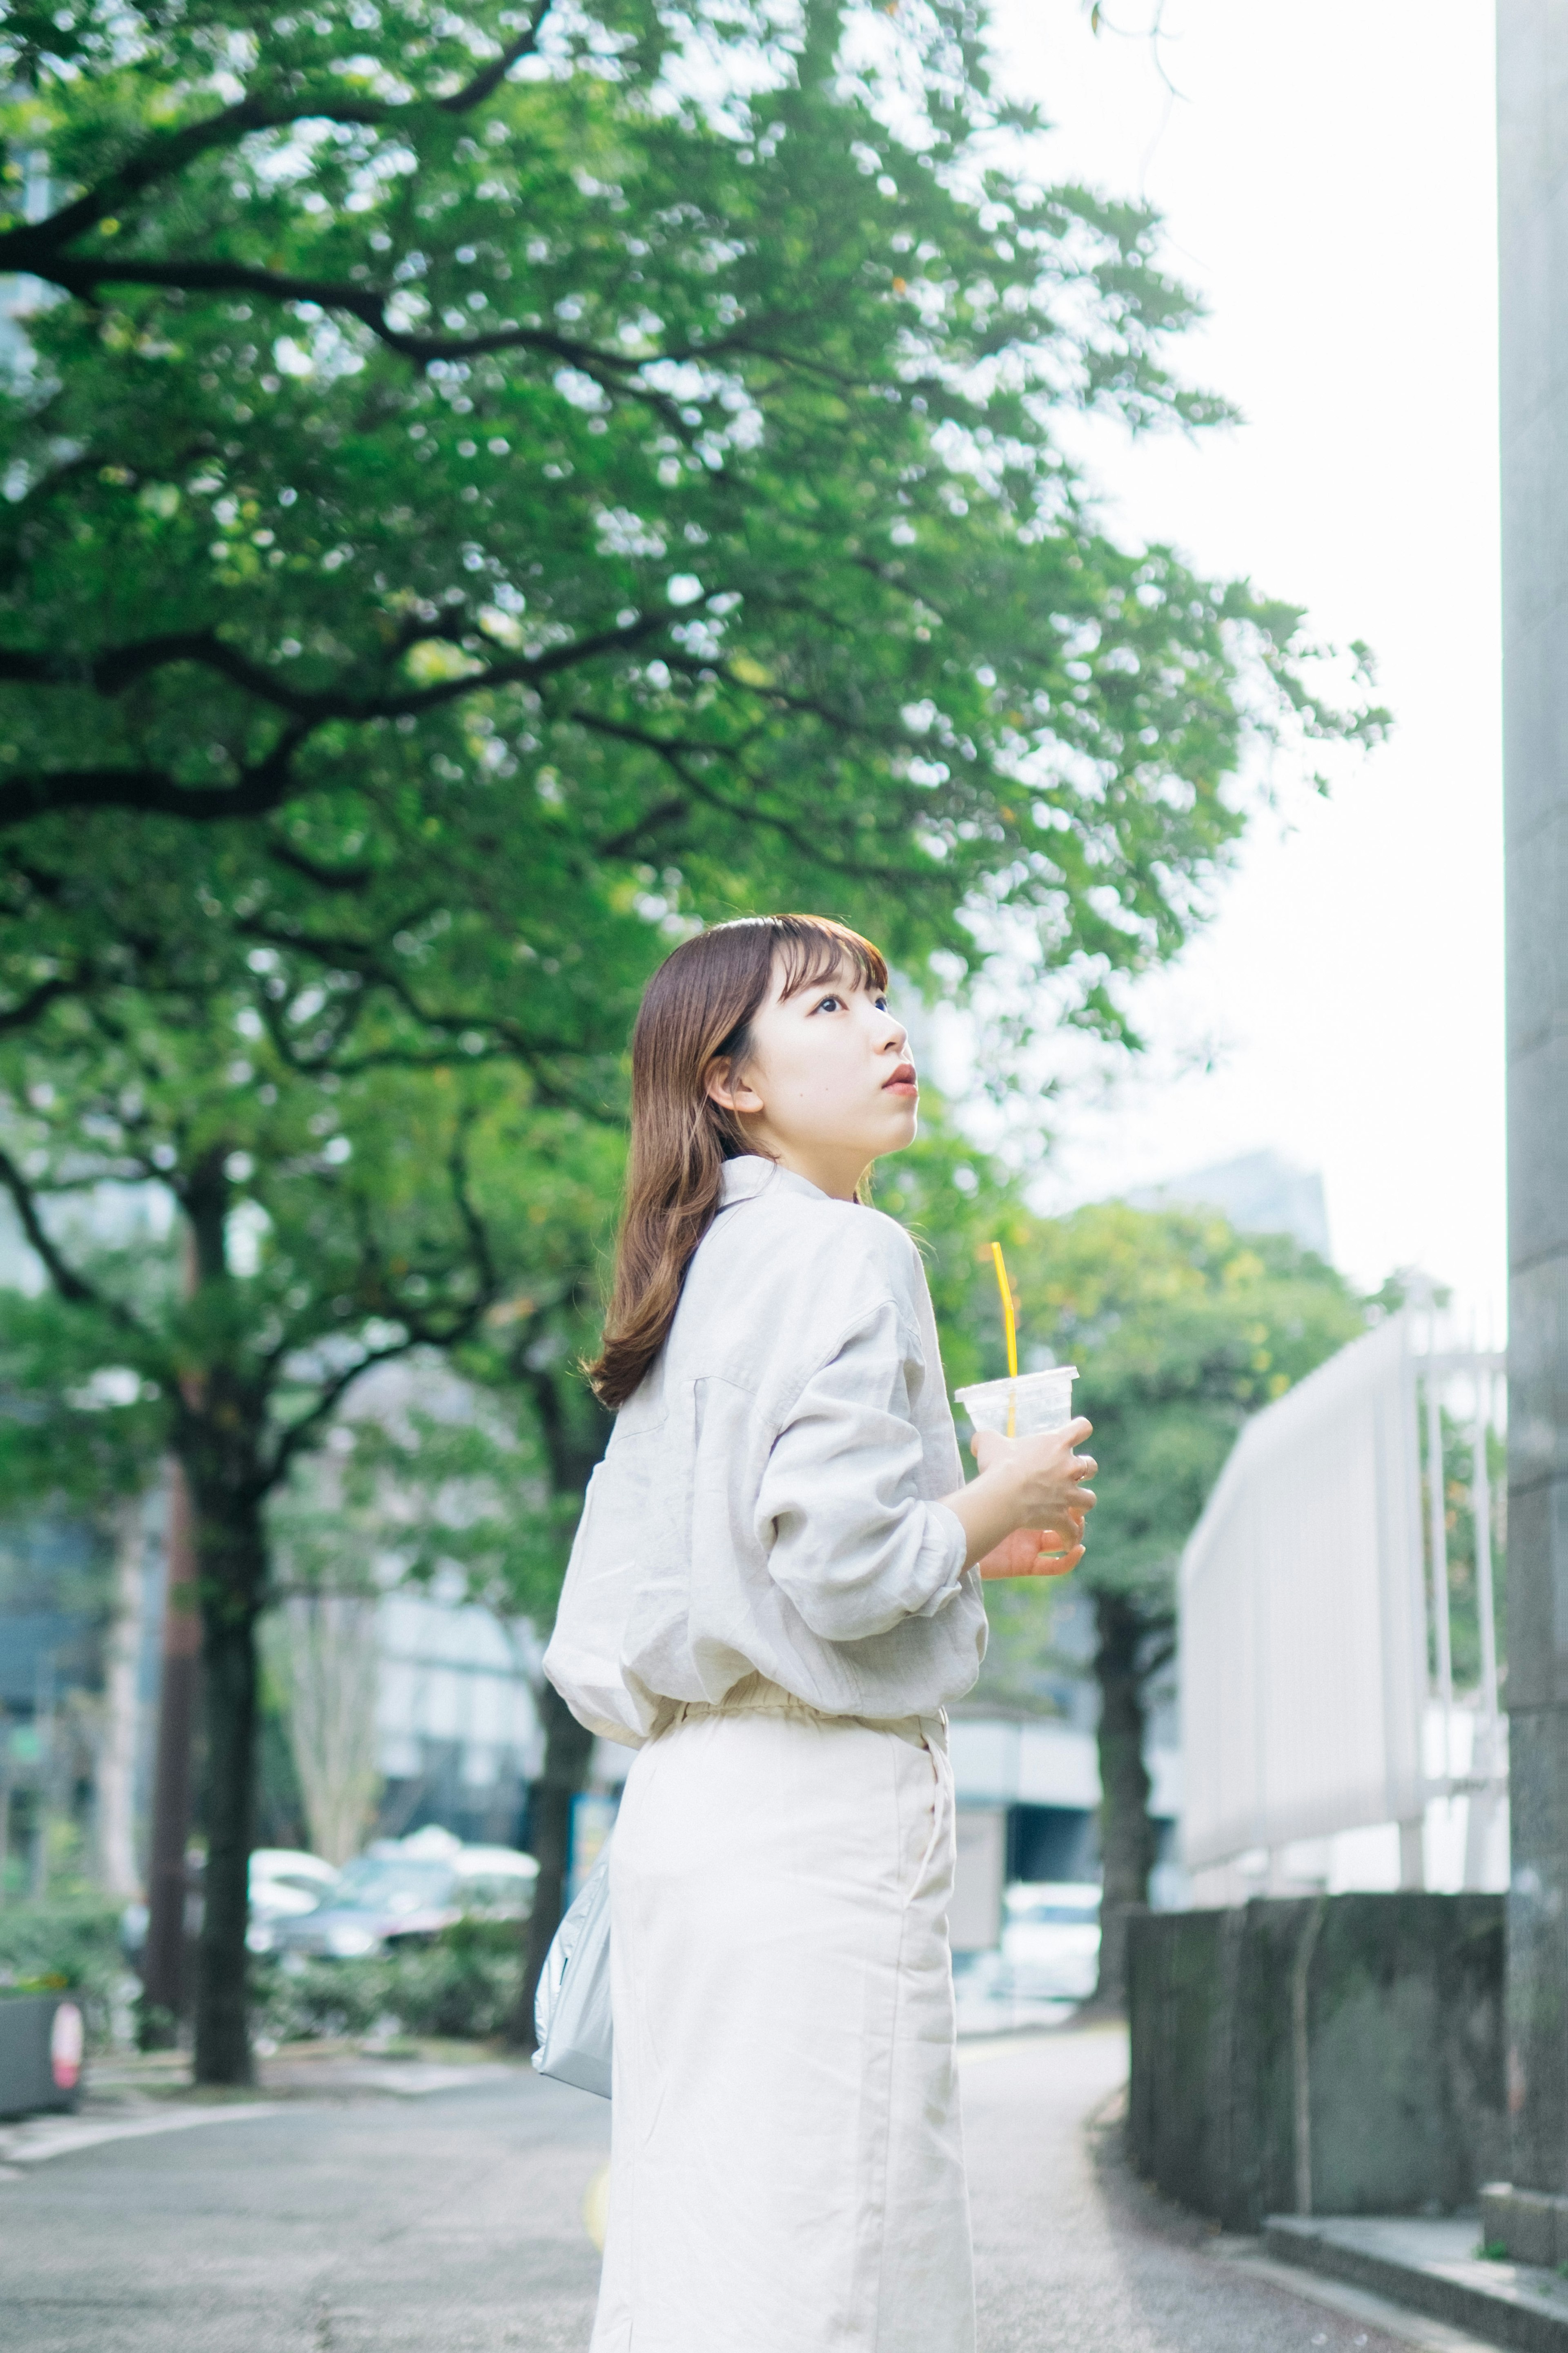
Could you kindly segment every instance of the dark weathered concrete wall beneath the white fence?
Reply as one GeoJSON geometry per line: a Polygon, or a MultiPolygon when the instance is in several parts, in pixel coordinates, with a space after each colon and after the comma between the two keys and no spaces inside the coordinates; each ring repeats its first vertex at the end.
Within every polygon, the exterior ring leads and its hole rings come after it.
{"type": "Polygon", "coordinates": [[[1229,2231],[1474,2205],[1507,2146],[1502,1897],[1140,1913],[1140,2174],[1229,2231]]]}

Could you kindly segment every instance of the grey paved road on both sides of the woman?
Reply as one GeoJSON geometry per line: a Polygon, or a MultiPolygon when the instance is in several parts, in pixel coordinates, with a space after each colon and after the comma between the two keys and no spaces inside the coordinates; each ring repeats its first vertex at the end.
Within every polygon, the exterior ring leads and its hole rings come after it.
{"type": "MultiPolygon", "coordinates": [[[[1110,2031],[966,2049],[980,2353],[1403,2353],[1237,2275],[1128,2184],[1093,2127],[1121,2075],[1110,2031]]],[[[0,2179],[0,2341],[583,2353],[604,2144],[599,2101],[520,2073],[59,2155],[0,2179]]]]}

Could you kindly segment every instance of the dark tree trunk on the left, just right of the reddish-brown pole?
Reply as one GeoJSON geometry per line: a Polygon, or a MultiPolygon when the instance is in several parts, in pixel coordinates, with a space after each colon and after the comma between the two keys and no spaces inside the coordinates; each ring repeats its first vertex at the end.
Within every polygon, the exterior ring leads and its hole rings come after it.
{"type": "Polygon", "coordinates": [[[256,1814],[256,1617],[266,1591],[261,1501],[195,1497],[207,1708],[207,1875],[195,1991],[195,2080],[252,2082],[244,2014],[249,1859],[256,1814]]]}

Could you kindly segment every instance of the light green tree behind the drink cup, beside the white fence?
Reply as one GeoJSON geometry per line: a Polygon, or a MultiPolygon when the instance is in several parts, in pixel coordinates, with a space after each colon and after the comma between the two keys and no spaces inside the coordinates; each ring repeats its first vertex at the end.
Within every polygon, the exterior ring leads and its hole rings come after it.
{"type": "MultiPolygon", "coordinates": [[[[1074,1581],[1093,1598],[1100,1687],[1100,1998],[1121,2002],[1126,1913],[1147,1899],[1154,1866],[1143,1748],[1150,1689],[1175,1652],[1182,1544],[1244,1419],[1356,1339],[1366,1315],[1309,1249],[1288,1235],[1237,1235],[1211,1212],[1100,1202],[1051,1219],[1032,1217],[1006,1188],[985,1209],[1018,1294],[1025,1362],[1034,1351],[1079,1367],[1074,1402],[1095,1426],[1091,1449],[1103,1466],[1074,1581]]],[[[987,1377],[1006,1369],[1001,1306],[990,1266],[976,1264],[973,1217],[933,1242],[961,1332],[954,1360],[959,1348],[978,1351],[987,1377]]],[[[943,1341],[952,1329],[943,1327],[943,1341]]],[[[1011,1640],[1039,1657],[1048,1588],[1004,1593],[1004,1652],[1011,1640]]]]}

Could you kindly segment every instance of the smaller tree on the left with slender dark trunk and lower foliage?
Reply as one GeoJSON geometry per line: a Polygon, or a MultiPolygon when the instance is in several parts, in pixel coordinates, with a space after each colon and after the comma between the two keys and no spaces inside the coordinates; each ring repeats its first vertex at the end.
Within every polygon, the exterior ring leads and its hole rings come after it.
{"type": "MultiPolygon", "coordinates": [[[[230,934],[214,927],[216,948],[230,934]]],[[[576,1186],[614,1198],[618,1139],[550,1113],[503,1061],[299,1075],[244,1035],[268,972],[221,955],[136,991],[71,1000],[0,1040],[12,1193],[80,1351],[160,1400],[160,1438],[195,1506],[207,1694],[207,1904],[197,2068],[247,2068],[242,1969],[256,1619],[268,1600],[268,1497],[376,1362],[454,1348],[538,1261],[531,1209],[576,1186]],[[240,1049],[247,1049],[240,1054],[240,1049]],[[47,1073],[47,1075],[45,1075],[47,1073]],[[599,1165],[607,1165],[604,1172],[599,1165]],[[174,1195],[179,1266],[89,1264],[61,1198],[106,1179],[174,1195]]]]}

